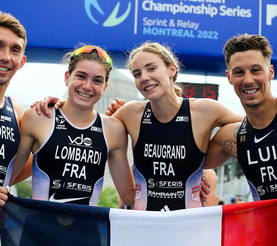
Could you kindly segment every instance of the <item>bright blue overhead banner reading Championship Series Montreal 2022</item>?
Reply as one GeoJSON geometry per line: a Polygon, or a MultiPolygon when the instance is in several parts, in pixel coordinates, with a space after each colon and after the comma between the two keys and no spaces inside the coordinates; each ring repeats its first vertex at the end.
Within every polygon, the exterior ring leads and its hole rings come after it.
{"type": "Polygon", "coordinates": [[[276,0],[11,0],[0,9],[22,22],[31,47],[73,48],[80,41],[126,51],[150,39],[174,44],[181,56],[222,57],[225,41],[242,32],[277,47],[276,0]]]}

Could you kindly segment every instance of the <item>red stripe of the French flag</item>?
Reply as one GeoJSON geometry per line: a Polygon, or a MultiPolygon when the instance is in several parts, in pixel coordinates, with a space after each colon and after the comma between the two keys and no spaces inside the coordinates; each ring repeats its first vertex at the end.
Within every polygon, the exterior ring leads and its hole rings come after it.
{"type": "Polygon", "coordinates": [[[221,246],[277,245],[277,199],[222,205],[221,246]]]}

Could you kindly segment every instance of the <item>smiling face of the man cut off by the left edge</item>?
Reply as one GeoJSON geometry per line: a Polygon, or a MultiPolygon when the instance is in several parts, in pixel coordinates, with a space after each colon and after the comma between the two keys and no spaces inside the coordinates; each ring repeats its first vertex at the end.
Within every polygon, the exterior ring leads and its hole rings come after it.
{"type": "Polygon", "coordinates": [[[7,27],[0,26],[0,85],[8,86],[17,70],[23,67],[24,40],[7,27]]]}

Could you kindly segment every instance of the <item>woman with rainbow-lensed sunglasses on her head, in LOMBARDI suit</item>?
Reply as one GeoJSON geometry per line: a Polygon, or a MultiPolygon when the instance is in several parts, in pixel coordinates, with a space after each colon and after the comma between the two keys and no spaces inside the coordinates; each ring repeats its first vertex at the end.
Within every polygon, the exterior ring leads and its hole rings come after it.
{"type": "MultiPolygon", "coordinates": [[[[127,159],[123,123],[94,110],[108,85],[112,61],[98,46],[67,53],[67,102],[38,115],[28,108],[20,124],[21,140],[8,173],[12,183],[33,153],[33,199],[97,206],[108,166],[123,202],[134,203],[135,186],[127,159]]],[[[8,177],[8,176],[7,176],[8,177]]]]}

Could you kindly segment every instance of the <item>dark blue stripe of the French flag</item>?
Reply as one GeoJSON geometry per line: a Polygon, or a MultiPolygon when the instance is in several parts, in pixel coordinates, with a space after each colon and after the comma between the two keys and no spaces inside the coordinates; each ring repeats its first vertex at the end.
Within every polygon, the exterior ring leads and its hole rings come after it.
{"type": "Polygon", "coordinates": [[[0,211],[1,245],[109,246],[109,210],[9,196],[0,211]]]}

